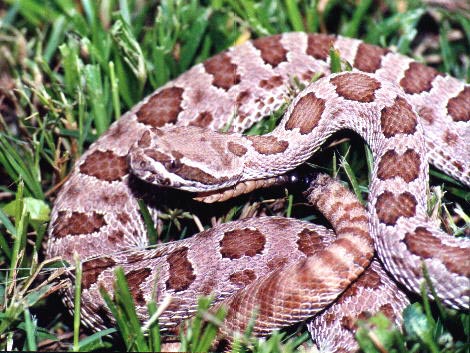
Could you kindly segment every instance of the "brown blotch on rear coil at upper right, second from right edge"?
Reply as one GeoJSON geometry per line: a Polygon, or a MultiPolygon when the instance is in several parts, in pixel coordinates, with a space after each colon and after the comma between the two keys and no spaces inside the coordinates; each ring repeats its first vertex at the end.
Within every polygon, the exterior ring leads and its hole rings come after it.
{"type": "Polygon", "coordinates": [[[429,91],[432,88],[432,81],[439,75],[439,72],[432,67],[412,62],[405,71],[405,76],[400,80],[400,86],[408,94],[429,91]]]}

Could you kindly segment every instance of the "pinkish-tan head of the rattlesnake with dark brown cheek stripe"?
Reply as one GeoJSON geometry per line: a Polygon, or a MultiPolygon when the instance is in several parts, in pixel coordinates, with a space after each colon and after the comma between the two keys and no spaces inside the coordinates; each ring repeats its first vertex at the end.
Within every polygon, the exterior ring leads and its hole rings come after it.
{"type": "Polygon", "coordinates": [[[246,147],[240,134],[195,126],[153,128],[131,148],[134,175],[154,185],[205,192],[236,184],[246,147]]]}

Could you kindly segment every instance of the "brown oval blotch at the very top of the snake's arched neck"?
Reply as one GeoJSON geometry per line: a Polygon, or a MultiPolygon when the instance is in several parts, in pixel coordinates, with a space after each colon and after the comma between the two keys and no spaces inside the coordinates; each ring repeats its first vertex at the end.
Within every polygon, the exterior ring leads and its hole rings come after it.
{"type": "Polygon", "coordinates": [[[330,82],[336,86],[336,93],[341,97],[362,103],[373,102],[375,91],[381,86],[376,79],[360,73],[336,76],[330,82]]]}

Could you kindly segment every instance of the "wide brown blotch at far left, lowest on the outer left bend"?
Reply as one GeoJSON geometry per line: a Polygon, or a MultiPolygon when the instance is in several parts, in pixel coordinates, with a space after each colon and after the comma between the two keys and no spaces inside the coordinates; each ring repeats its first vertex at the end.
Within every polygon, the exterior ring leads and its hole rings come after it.
{"type": "Polygon", "coordinates": [[[90,214],[72,212],[67,215],[60,211],[53,225],[52,234],[55,238],[63,238],[67,235],[89,234],[98,231],[106,225],[102,214],[91,212],[90,214]]]}

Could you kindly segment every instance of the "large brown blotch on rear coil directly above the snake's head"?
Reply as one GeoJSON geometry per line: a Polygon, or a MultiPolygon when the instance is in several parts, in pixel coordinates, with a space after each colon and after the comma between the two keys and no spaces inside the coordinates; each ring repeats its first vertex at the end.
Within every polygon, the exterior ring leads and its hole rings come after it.
{"type": "Polygon", "coordinates": [[[137,121],[153,127],[175,123],[181,111],[183,88],[169,87],[151,97],[137,111],[137,121]]]}

